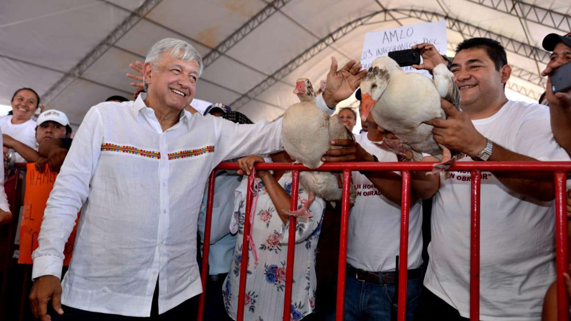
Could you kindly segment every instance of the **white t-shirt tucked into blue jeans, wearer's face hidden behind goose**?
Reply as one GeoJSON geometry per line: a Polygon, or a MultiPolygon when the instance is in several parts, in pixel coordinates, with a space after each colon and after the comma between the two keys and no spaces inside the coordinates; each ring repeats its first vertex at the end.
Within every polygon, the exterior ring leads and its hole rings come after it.
{"type": "MultiPolygon", "coordinates": [[[[396,162],[396,155],[369,141],[367,133],[355,135],[363,149],[375,155],[379,162],[396,162]]],[[[400,172],[397,172],[400,174],[400,172]]],[[[394,271],[395,256],[400,249],[400,204],[395,204],[371,183],[367,176],[352,172],[357,192],[355,205],[349,214],[347,235],[347,263],[363,270],[394,271]]],[[[422,204],[417,200],[411,206],[408,223],[408,268],[423,263],[422,204]]]]}

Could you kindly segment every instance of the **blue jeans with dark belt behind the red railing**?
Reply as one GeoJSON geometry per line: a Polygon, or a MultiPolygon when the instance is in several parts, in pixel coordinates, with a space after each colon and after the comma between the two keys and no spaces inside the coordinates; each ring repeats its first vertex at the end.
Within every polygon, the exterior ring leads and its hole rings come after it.
{"type": "MultiPolygon", "coordinates": [[[[391,321],[394,285],[381,285],[382,280],[379,284],[360,282],[354,275],[345,276],[345,282],[344,321],[391,321]]],[[[407,320],[414,318],[419,307],[422,283],[421,278],[407,282],[407,320]]]]}

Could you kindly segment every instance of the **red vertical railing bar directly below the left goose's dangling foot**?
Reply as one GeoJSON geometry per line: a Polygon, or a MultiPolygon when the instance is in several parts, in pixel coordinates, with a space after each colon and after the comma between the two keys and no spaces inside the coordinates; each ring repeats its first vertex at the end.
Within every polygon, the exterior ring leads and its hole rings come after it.
{"type": "MultiPolygon", "coordinates": [[[[290,210],[297,210],[297,194],[299,192],[299,171],[291,172],[291,206],[290,210]]],[[[284,321],[289,321],[291,314],[291,287],[293,284],[293,257],[295,255],[295,231],[297,221],[295,217],[289,216],[289,235],[287,243],[286,262],[286,288],[284,289],[284,321]]]]}

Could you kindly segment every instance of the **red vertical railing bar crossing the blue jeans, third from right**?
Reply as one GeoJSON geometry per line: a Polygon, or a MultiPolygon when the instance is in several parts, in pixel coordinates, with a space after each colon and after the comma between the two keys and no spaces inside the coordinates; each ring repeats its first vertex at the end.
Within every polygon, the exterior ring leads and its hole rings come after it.
{"type": "Polygon", "coordinates": [[[399,253],[399,296],[397,300],[397,320],[407,320],[407,279],[408,279],[408,220],[411,205],[411,172],[402,171],[403,184],[400,207],[400,253],[399,253]]]}

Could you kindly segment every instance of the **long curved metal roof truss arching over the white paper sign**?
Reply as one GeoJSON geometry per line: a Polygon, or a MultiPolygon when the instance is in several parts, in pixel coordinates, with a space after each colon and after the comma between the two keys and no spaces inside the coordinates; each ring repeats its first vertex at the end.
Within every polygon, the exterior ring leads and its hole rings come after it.
{"type": "MultiPolygon", "coordinates": [[[[258,97],[259,94],[263,93],[266,89],[274,85],[274,83],[281,81],[284,77],[286,77],[286,75],[291,73],[293,70],[297,69],[297,67],[301,66],[304,62],[307,62],[309,59],[315,57],[315,55],[319,54],[321,51],[323,51],[329,45],[337,41],[339,38],[355,30],[357,27],[364,25],[373,17],[377,17],[378,15],[383,15],[383,17],[381,17],[381,19],[379,21],[376,21],[375,23],[395,21],[396,19],[401,18],[401,17],[394,18],[392,13],[399,13],[406,18],[417,18],[427,22],[446,19],[448,29],[457,31],[462,35],[468,35],[469,37],[492,38],[500,42],[506,50],[511,51],[512,53],[516,53],[518,55],[522,55],[524,57],[545,64],[548,63],[549,61],[549,53],[547,51],[544,51],[534,46],[530,46],[528,43],[524,43],[521,41],[517,41],[516,39],[505,37],[497,33],[493,33],[492,31],[482,29],[480,27],[471,25],[470,23],[466,23],[460,21],[459,19],[451,18],[440,13],[426,11],[426,10],[416,10],[416,9],[380,10],[371,14],[364,15],[363,17],[357,18],[351,22],[345,23],[345,25],[337,28],[335,31],[326,35],[324,38],[321,38],[313,46],[309,47],[307,50],[303,51],[303,53],[299,54],[297,57],[293,58],[291,61],[286,63],[286,65],[278,69],[274,74],[271,74],[262,82],[258,83],[258,85],[248,90],[247,93],[243,94],[242,96],[240,96],[240,98],[232,102],[230,106],[232,106],[234,110],[237,110],[240,107],[246,105],[246,103],[258,97]]],[[[533,74],[530,71],[526,71],[524,69],[516,67],[516,73],[514,73],[514,75],[516,75],[516,77],[518,78],[522,78],[536,85],[543,86],[541,85],[542,83],[541,80],[536,79],[535,74],[533,74]]],[[[541,78],[540,75],[537,75],[537,77],[541,78]]],[[[531,93],[530,95],[528,95],[528,97],[530,98],[536,98],[537,96],[537,93],[534,92],[533,90],[525,88],[524,88],[525,90],[522,90],[520,89],[520,87],[522,86],[518,86],[517,84],[513,83],[511,85],[508,84],[508,87],[510,87],[510,89],[514,91],[517,91],[518,93],[522,94],[531,93]]]]}

